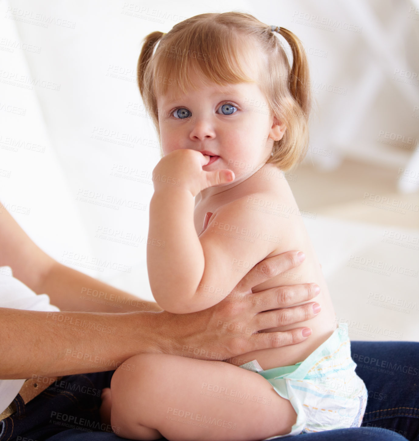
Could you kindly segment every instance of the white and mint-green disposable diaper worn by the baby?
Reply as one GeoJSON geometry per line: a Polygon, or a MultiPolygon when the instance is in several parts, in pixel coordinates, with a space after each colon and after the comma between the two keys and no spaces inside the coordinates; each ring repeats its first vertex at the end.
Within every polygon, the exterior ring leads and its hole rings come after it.
{"type": "Polygon", "coordinates": [[[368,391],[355,373],[346,323],[340,323],[303,362],[261,370],[259,363],[253,360],[240,367],[266,378],[280,396],[291,402],[297,413],[297,421],[289,434],[266,440],[361,426],[368,391]]]}

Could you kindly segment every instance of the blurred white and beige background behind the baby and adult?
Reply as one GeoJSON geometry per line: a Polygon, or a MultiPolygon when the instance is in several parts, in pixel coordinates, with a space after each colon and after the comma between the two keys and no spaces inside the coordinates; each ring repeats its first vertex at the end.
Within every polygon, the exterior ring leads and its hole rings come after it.
{"type": "Polygon", "coordinates": [[[418,1],[0,1],[0,201],[59,262],[152,299],[141,40],[232,10],[307,50],[317,107],[289,183],[337,318],[352,340],[419,341],[418,1]]]}

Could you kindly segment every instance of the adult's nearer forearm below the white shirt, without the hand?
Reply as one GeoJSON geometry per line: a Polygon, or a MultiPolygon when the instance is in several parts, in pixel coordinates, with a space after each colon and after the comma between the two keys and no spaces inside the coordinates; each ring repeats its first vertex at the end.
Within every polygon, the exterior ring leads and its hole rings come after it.
{"type": "Polygon", "coordinates": [[[0,378],[114,370],[132,355],[159,352],[155,314],[0,308],[0,378]]]}

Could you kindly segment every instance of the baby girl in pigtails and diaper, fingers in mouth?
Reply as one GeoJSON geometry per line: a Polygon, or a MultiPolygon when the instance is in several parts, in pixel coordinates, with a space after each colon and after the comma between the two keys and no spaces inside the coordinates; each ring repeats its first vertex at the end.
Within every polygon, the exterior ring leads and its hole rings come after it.
{"type": "MultiPolygon", "coordinates": [[[[337,326],[284,175],[308,146],[311,98],[300,40],[246,13],[197,15],[145,38],[138,82],[162,148],[147,247],[156,302],[174,314],[209,308],[256,263],[300,249],[306,258],[296,270],[261,278],[252,292],[314,281],[322,311],[301,324],[312,335],[296,345],[272,341],[270,349],[222,361],[188,358],[190,348],[185,357],[132,357],[126,363],[135,370],[116,370],[106,396],[112,426],[122,437],[171,441],[359,427],[367,390],[355,373],[348,326],[337,326]]],[[[219,332],[228,329],[219,323],[219,332]]],[[[243,329],[243,338],[252,332],[243,329]]]]}

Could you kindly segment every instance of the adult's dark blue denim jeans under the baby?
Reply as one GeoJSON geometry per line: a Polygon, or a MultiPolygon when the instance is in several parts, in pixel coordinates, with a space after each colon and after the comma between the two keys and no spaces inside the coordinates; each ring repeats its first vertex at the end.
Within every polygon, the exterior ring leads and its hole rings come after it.
{"type": "MultiPolygon", "coordinates": [[[[296,441],[419,441],[419,343],[352,341],[351,355],[357,364],[356,374],[368,390],[362,426],[293,438],[296,441]]],[[[17,402],[19,411],[4,420],[0,441],[121,440],[111,427],[100,423],[99,415],[100,392],[109,387],[113,372],[69,375],[27,405],[17,402]]]]}

